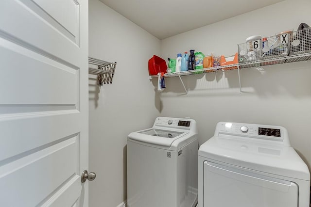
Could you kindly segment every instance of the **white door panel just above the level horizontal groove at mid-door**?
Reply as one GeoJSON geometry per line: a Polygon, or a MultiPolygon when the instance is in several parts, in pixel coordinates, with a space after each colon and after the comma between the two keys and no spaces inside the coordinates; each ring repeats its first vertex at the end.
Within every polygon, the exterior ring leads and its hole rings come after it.
{"type": "Polygon", "coordinates": [[[0,53],[0,104],[77,105],[79,70],[1,38],[0,53]]]}

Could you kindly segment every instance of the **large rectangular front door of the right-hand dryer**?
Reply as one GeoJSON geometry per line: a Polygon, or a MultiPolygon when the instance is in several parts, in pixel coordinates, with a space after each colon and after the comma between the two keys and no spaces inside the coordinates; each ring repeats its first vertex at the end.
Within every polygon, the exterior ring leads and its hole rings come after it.
{"type": "Polygon", "coordinates": [[[204,162],[203,207],[297,207],[290,181],[204,162]]]}

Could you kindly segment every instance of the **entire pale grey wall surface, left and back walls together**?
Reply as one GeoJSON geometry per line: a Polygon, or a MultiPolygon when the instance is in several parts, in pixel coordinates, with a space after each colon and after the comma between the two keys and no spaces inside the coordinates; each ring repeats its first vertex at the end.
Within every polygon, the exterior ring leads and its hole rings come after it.
{"type": "Polygon", "coordinates": [[[182,77],[189,90],[184,95],[178,78],[167,78],[167,89],[155,93],[156,80],[148,80],[147,70],[154,54],[173,58],[194,48],[229,56],[250,35],[311,25],[310,8],[310,0],[286,0],[159,41],[100,1],[89,0],[89,56],[117,62],[113,84],[99,91],[95,77],[89,79],[89,170],[97,174],[89,183],[89,206],[115,207],[126,199],[126,136],[150,127],[157,115],[194,118],[200,143],[219,121],[284,126],[310,168],[310,62],[242,70],[242,94],[237,71],[182,77]]]}

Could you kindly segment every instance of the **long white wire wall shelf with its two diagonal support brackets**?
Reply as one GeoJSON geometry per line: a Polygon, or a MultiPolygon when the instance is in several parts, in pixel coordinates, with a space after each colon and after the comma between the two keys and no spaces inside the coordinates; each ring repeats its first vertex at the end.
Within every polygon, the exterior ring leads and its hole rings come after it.
{"type": "MultiPolygon", "coordinates": [[[[302,61],[311,61],[311,52],[308,53],[302,53],[302,54],[294,54],[289,56],[283,56],[283,57],[277,57],[277,58],[270,58],[270,59],[264,59],[259,61],[252,61],[247,63],[240,63],[240,64],[229,64],[224,66],[217,66],[217,67],[209,67],[209,68],[202,68],[202,69],[196,69],[196,70],[188,70],[183,72],[175,72],[175,73],[165,73],[164,77],[179,77],[186,94],[188,94],[188,91],[185,87],[185,84],[183,80],[181,79],[181,76],[187,76],[187,75],[195,75],[200,73],[210,73],[210,72],[225,72],[228,70],[238,70],[238,77],[239,77],[239,86],[240,86],[240,93],[242,93],[242,86],[241,86],[241,77],[240,77],[240,70],[246,69],[246,68],[257,68],[259,70],[264,70],[263,67],[269,66],[269,65],[276,65],[276,64],[290,64],[295,62],[302,62],[302,61]]],[[[149,76],[149,79],[157,78],[157,76],[149,76]]]]}

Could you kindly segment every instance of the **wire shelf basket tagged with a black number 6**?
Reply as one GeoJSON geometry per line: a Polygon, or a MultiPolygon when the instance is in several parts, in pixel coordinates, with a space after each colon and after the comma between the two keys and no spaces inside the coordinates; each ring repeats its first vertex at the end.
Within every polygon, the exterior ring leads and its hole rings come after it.
{"type": "Polygon", "coordinates": [[[252,63],[252,66],[260,66],[259,63],[253,65],[254,62],[260,60],[261,56],[261,40],[255,40],[252,42],[246,42],[238,44],[239,64],[241,68],[250,67],[248,63],[252,63]]]}

